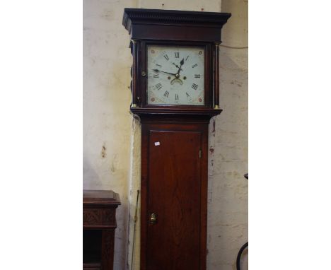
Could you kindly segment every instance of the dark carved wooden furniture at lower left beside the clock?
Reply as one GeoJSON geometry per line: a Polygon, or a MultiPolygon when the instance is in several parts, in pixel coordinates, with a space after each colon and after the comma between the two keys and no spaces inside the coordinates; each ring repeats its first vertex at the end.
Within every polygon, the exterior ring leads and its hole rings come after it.
{"type": "Polygon", "coordinates": [[[83,269],[112,270],[119,205],[111,190],[83,190],[83,269]]]}

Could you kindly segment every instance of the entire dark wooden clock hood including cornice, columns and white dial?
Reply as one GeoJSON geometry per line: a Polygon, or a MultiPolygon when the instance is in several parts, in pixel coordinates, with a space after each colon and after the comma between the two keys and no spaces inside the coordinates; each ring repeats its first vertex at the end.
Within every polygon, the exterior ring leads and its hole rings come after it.
{"type": "Polygon", "coordinates": [[[219,44],[230,17],[124,8],[122,24],[131,36],[131,112],[140,117],[219,115],[219,44]]]}

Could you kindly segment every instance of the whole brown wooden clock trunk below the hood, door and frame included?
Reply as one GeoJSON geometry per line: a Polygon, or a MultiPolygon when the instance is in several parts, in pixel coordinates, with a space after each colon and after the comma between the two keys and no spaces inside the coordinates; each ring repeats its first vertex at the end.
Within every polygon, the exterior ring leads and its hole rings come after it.
{"type": "Polygon", "coordinates": [[[182,121],[141,119],[141,270],[205,269],[209,119],[182,121]]]}

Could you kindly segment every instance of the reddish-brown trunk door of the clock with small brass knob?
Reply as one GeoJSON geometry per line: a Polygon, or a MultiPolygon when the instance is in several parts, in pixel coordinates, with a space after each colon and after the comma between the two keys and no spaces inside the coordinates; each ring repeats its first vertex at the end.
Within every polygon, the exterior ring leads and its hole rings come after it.
{"type": "Polygon", "coordinates": [[[198,270],[202,133],[149,135],[147,269],[198,270]]]}

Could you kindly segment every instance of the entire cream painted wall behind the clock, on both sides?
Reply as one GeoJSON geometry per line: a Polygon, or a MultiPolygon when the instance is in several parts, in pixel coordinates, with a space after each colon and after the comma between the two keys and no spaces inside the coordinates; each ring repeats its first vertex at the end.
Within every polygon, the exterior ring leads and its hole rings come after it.
{"type": "MultiPolygon", "coordinates": [[[[83,1],[83,187],[113,189],[117,211],[115,270],[131,265],[133,217],[140,176],[140,124],[129,114],[129,35],[124,7],[224,11],[224,45],[247,45],[247,1],[83,1]],[[129,223],[129,224],[128,224],[129,223]]],[[[247,241],[247,49],[220,49],[221,107],[210,124],[207,269],[235,269],[247,241]]],[[[139,269],[139,222],[134,269],[139,269]]]]}

